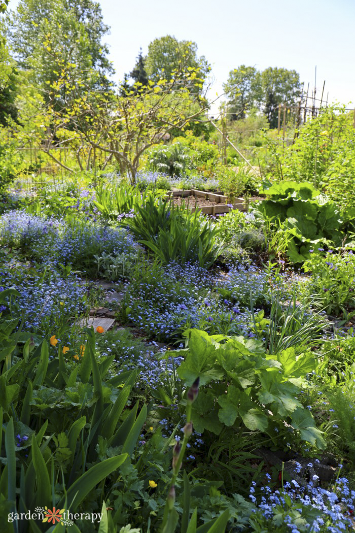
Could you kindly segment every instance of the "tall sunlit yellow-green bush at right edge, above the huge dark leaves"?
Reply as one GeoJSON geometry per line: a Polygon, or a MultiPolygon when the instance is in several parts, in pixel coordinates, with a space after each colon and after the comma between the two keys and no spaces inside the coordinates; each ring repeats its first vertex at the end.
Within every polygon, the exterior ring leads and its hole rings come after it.
{"type": "Polygon", "coordinates": [[[317,117],[303,124],[287,148],[270,138],[267,144],[268,176],[281,181],[309,181],[342,210],[354,207],[355,129],[353,113],[344,106],[323,107],[317,117]]]}

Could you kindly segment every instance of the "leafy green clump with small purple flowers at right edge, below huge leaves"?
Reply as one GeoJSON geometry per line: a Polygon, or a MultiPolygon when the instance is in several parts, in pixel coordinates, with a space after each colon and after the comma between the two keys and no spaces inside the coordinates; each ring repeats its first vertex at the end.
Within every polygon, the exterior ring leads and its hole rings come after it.
{"type": "Polygon", "coordinates": [[[341,315],[349,320],[355,312],[355,256],[352,250],[313,252],[303,265],[312,277],[304,296],[327,314],[341,315]]]}

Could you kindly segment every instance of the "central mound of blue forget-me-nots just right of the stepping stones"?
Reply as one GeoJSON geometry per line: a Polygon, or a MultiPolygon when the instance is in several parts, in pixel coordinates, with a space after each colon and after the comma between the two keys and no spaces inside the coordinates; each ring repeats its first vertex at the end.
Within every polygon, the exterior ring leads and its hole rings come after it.
{"type": "MultiPolygon", "coordinates": [[[[253,336],[250,310],[216,291],[225,284],[232,287],[233,279],[193,264],[170,263],[142,272],[125,295],[127,318],[158,340],[179,340],[185,329],[193,327],[211,334],[253,336]]],[[[257,289],[261,290],[262,284],[257,289]]]]}

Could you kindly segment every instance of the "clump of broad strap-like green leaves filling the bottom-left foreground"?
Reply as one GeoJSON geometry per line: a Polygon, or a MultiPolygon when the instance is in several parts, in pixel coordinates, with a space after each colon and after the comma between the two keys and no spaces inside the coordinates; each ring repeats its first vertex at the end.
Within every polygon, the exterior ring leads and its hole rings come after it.
{"type": "MultiPolygon", "coordinates": [[[[5,290],[0,296],[9,294],[5,290]]],[[[16,291],[11,294],[16,296],[16,291]]],[[[7,458],[11,480],[3,487],[4,495],[14,508],[45,504],[62,508],[67,500],[74,512],[88,497],[92,501],[95,487],[105,478],[108,494],[117,469],[133,454],[146,407],[139,413],[137,405],[133,411],[126,408],[130,416],[123,417],[124,422],[121,415],[135,372],[108,379],[113,357],[97,361],[93,329],[87,330],[85,352],[73,366],[61,348],[48,348],[45,340],[36,344],[28,336],[24,342],[22,324],[15,329],[18,319],[0,317],[0,321],[0,403],[7,424],[2,456],[7,458]],[[99,435],[109,446],[120,445],[109,458],[97,456],[99,435]]]]}

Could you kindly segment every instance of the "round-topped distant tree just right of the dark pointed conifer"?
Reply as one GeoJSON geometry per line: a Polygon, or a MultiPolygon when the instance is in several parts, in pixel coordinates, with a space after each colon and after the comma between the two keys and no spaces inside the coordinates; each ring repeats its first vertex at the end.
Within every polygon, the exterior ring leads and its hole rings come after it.
{"type": "MultiPolygon", "coordinates": [[[[197,44],[189,41],[178,41],[175,37],[167,35],[154,39],[148,46],[145,58],[145,68],[148,78],[154,83],[161,79],[171,80],[178,71],[194,71],[196,83],[191,86],[191,91],[200,92],[210,71],[210,66],[204,56],[197,57],[197,44]]],[[[183,80],[180,80],[181,82],[183,80]]]]}

